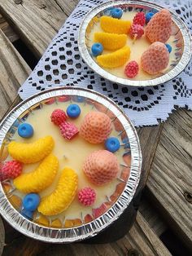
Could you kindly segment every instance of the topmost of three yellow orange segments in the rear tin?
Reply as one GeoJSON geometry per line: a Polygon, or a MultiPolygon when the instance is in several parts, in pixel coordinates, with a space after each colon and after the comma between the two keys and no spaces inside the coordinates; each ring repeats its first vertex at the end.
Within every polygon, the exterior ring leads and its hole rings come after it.
{"type": "Polygon", "coordinates": [[[109,16],[102,16],[100,20],[101,28],[108,33],[125,33],[128,34],[131,21],[118,20],[109,16]]]}

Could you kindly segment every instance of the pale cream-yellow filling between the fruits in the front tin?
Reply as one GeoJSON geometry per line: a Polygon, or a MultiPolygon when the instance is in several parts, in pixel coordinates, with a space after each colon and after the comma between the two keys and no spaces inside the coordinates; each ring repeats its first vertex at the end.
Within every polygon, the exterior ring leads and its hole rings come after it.
{"type": "MultiPolygon", "coordinates": [[[[43,138],[46,135],[52,136],[52,138],[55,141],[55,147],[51,152],[51,154],[55,155],[55,157],[58,158],[59,170],[55,175],[53,183],[51,183],[51,185],[48,188],[39,192],[41,199],[55,192],[55,189],[57,188],[57,184],[59,182],[59,177],[64,168],[71,168],[76,172],[78,176],[77,190],[80,190],[81,188],[85,188],[85,187],[90,187],[90,188],[93,188],[94,191],[96,192],[96,200],[94,201],[94,205],[91,205],[91,206],[81,205],[81,203],[78,201],[78,196],[76,195],[71,205],[68,206],[67,210],[64,210],[60,214],[57,214],[54,216],[48,216],[49,218],[48,222],[46,222],[46,216],[43,216],[38,213],[34,214],[35,216],[34,218],[37,218],[36,220],[34,219],[34,221],[41,223],[42,225],[48,225],[46,223],[55,222],[55,219],[57,219],[56,225],[58,225],[58,222],[60,221],[61,226],[66,227],[66,226],[74,225],[74,223],[70,222],[74,219],[82,219],[82,218],[84,219],[87,214],[89,214],[90,216],[93,216],[93,209],[99,208],[101,205],[103,205],[103,203],[106,203],[107,201],[113,201],[113,200],[116,201],[116,199],[119,196],[116,194],[116,187],[118,184],[121,191],[124,186],[124,183],[120,182],[120,180],[118,179],[118,178],[122,179],[123,177],[122,170],[124,170],[124,167],[120,167],[120,171],[117,174],[116,179],[113,179],[110,183],[107,183],[104,186],[96,186],[93,183],[90,183],[89,180],[86,178],[85,174],[82,171],[82,166],[83,166],[83,162],[85,161],[85,157],[87,157],[90,152],[94,152],[98,149],[105,149],[104,143],[100,143],[100,144],[88,143],[85,141],[85,139],[81,138],[80,135],[77,135],[72,140],[66,140],[61,136],[59,127],[55,126],[50,121],[50,115],[56,108],[61,108],[64,111],[66,111],[69,104],[71,104],[70,101],[63,102],[63,103],[57,102],[55,104],[43,104],[43,107],[41,109],[33,110],[33,113],[30,113],[25,120],[25,122],[28,122],[33,126],[33,130],[34,130],[33,137],[29,139],[23,139],[20,137],[20,135],[18,135],[17,132],[15,132],[15,135],[13,136],[13,139],[16,142],[21,142],[21,143],[33,143],[37,139],[43,138]]],[[[68,118],[68,121],[74,123],[78,127],[78,129],[80,129],[81,123],[85,115],[93,110],[94,111],[98,111],[98,110],[94,108],[92,104],[85,104],[84,102],[76,103],[76,104],[78,104],[81,108],[81,115],[76,119],[68,118]]],[[[117,137],[121,142],[121,138],[119,134],[120,134],[120,130],[115,129],[114,123],[112,122],[112,131],[111,131],[110,137],[111,136],[117,137]]],[[[115,152],[115,154],[119,164],[124,163],[124,159],[123,159],[124,147],[120,147],[120,149],[117,152],[115,152]]],[[[130,159],[131,157],[129,156],[128,157],[129,166],[130,166],[130,159]]],[[[10,156],[7,157],[7,161],[9,160],[11,160],[10,156]]],[[[33,163],[33,164],[26,164],[24,165],[23,173],[27,174],[29,172],[32,172],[39,165],[40,165],[40,162],[33,163]]],[[[126,172],[129,172],[129,170],[127,169],[126,172]]],[[[127,177],[125,179],[127,179],[127,177]]],[[[14,193],[14,196],[19,196],[20,198],[23,198],[26,195],[25,193],[22,193],[19,190],[15,190],[13,193],[14,193]]],[[[11,203],[15,205],[14,201],[12,201],[11,203]]]]}

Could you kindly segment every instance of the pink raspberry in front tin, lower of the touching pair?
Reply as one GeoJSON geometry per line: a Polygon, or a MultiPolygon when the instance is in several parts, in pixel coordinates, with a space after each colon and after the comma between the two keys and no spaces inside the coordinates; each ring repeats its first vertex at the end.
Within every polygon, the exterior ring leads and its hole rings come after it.
{"type": "Polygon", "coordinates": [[[68,121],[63,121],[59,128],[64,139],[73,139],[79,133],[78,128],[68,121]]]}

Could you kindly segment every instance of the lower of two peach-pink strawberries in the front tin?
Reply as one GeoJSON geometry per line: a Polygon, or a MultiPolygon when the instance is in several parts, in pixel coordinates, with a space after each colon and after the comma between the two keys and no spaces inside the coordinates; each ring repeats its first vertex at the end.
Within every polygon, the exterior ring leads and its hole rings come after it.
{"type": "Polygon", "coordinates": [[[116,178],[119,164],[116,155],[102,149],[85,158],[83,171],[91,183],[101,186],[116,178]]]}

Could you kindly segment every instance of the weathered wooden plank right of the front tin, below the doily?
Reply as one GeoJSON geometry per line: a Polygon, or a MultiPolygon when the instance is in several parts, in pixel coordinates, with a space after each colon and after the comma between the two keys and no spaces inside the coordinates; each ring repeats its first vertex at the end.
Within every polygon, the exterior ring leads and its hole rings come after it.
{"type": "Polygon", "coordinates": [[[192,248],[192,113],[174,112],[164,124],[147,188],[164,218],[192,248]],[[185,192],[190,196],[185,199],[185,192]]]}

